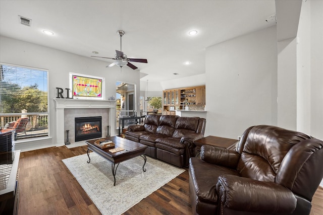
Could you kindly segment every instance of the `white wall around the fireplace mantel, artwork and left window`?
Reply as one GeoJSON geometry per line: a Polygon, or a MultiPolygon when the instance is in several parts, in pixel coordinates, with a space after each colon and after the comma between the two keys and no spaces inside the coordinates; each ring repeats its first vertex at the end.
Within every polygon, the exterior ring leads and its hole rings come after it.
{"type": "MultiPolygon", "coordinates": [[[[31,66],[48,69],[49,74],[49,135],[46,140],[28,142],[29,149],[56,146],[56,109],[53,98],[56,98],[56,88],[69,88],[69,73],[78,73],[102,77],[105,79],[105,99],[116,96],[116,81],[124,81],[137,85],[137,110],[139,114],[140,82],[139,71],[124,67],[114,66],[106,68],[106,62],[83,57],[80,55],[52,49],[32,43],[0,37],[0,61],[17,65],[31,66]]],[[[89,54],[90,55],[90,54],[89,54]]],[[[25,145],[25,147],[26,147],[25,145]]],[[[16,149],[19,150],[19,145],[16,149]]]]}

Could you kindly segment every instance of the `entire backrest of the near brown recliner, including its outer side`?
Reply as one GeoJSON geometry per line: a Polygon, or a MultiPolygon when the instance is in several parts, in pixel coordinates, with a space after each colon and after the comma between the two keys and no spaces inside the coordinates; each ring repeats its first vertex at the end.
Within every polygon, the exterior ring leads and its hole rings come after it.
{"type": "Polygon", "coordinates": [[[323,140],[284,128],[249,127],[239,141],[242,177],[279,183],[311,200],[323,177],[323,140]]]}

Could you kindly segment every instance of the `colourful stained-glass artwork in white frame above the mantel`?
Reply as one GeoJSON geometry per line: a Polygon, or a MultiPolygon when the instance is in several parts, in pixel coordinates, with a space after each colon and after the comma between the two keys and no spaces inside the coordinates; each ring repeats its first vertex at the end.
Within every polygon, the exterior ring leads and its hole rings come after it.
{"type": "Polygon", "coordinates": [[[103,79],[72,75],[73,96],[102,97],[103,79]]]}

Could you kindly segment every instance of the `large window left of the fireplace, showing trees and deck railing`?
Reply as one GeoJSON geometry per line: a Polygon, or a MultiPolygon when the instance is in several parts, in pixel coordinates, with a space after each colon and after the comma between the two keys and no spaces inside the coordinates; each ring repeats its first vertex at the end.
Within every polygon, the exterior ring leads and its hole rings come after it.
{"type": "Polygon", "coordinates": [[[17,139],[48,136],[47,77],[44,69],[0,63],[2,130],[28,118],[22,128],[16,129],[17,139]]]}

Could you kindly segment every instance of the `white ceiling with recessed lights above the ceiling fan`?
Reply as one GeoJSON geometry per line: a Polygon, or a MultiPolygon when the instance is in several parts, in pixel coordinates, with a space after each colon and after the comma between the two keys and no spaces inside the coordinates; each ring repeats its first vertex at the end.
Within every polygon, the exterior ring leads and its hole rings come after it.
{"type": "Polygon", "coordinates": [[[206,47],[275,25],[265,22],[272,15],[275,0],[1,0],[0,34],[86,57],[92,51],[114,57],[120,50],[117,31],[123,30],[122,51],[129,58],[147,58],[147,64],[133,64],[147,74],[143,81],[154,82],[205,73],[206,47]],[[21,25],[18,15],[31,19],[31,27],[21,25]],[[198,34],[189,36],[193,29],[198,34]]]}

